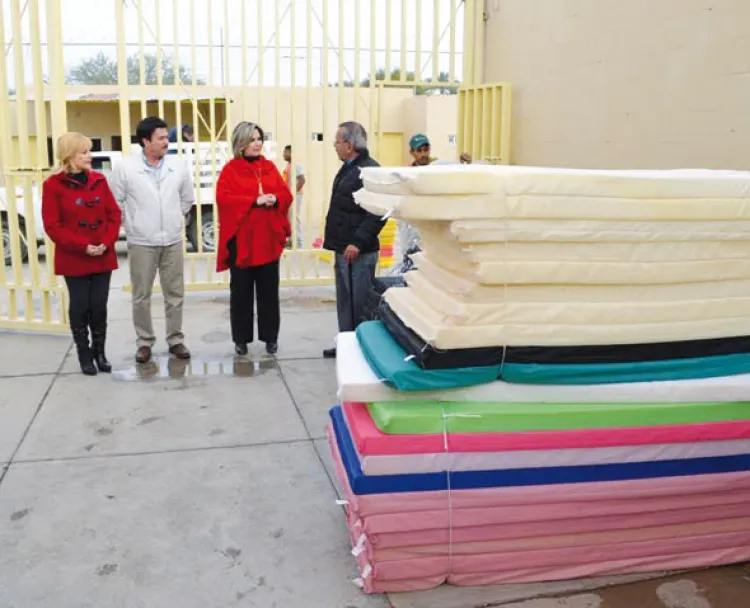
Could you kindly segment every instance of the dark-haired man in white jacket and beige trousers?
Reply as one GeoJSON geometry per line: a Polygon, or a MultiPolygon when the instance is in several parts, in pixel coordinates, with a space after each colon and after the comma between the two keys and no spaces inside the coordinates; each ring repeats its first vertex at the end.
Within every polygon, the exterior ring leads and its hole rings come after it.
{"type": "Polygon", "coordinates": [[[112,192],[122,206],[133,285],[133,325],[138,363],[151,359],[156,338],[151,320],[151,293],[159,272],[164,294],[169,352],[189,359],[182,333],[185,278],[182,255],[184,219],[195,193],[187,164],[167,156],[169,132],[161,118],[144,118],[135,130],[141,151],[118,163],[112,192]]]}

